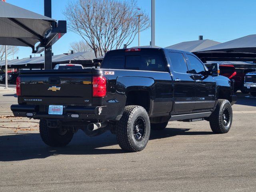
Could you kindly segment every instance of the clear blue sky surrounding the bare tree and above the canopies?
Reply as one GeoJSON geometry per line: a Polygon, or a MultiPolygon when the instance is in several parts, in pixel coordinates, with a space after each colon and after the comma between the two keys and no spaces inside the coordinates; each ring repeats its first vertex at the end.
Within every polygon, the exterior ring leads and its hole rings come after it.
{"type": "MultiPolygon", "coordinates": [[[[44,14],[44,0],[6,2],[44,14]]],[[[67,2],[68,0],[52,0],[52,18],[65,20],[62,10],[67,2]]],[[[150,15],[151,0],[138,0],[138,6],[150,15]]],[[[255,7],[255,0],[156,0],[156,45],[166,47],[183,41],[198,40],[199,35],[203,35],[204,39],[226,42],[255,34],[255,7]]],[[[140,44],[148,45],[150,38],[150,29],[141,32],[140,44]]],[[[68,32],[54,44],[54,54],[67,52],[70,42],[80,39],[77,34],[68,32]]],[[[135,38],[131,46],[137,45],[138,38],[135,38]]],[[[14,58],[24,58],[31,54],[31,48],[20,47],[14,58]]]]}

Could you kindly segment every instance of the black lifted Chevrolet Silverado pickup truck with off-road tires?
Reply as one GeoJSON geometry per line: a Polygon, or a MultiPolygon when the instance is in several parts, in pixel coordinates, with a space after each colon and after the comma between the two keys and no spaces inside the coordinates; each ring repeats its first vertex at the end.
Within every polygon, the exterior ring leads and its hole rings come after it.
{"type": "Polygon", "coordinates": [[[208,120],[214,133],[232,124],[232,82],[192,53],[162,48],[107,52],[102,65],[84,70],[21,71],[15,116],[40,119],[49,146],[67,145],[79,129],[110,130],[123,150],[143,150],[150,128],[168,121],[208,120]]]}

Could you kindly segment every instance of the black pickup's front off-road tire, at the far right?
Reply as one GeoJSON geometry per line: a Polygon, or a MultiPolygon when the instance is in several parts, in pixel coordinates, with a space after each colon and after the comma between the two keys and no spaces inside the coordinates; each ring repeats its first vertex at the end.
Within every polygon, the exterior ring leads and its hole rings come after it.
{"type": "Polygon", "coordinates": [[[216,134],[227,133],[230,130],[232,125],[232,106],[230,102],[226,99],[219,99],[216,109],[212,112],[211,116],[209,117],[210,127],[212,131],[216,134]],[[228,111],[228,120],[226,120],[226,125],[224,124],[224,112],[228,111]]]}

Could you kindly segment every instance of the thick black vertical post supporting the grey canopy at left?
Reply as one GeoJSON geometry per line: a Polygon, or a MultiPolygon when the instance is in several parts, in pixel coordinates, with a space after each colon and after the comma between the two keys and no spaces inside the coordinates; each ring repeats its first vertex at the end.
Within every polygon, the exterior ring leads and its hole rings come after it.
{"type": "MultiPolygon", "coordinates": [[[[52,18],[52,0],[44,0],[44,16],[52,18]]],[[[44,69],[52,69],[52,46],[44,48],[44,69]]]]}

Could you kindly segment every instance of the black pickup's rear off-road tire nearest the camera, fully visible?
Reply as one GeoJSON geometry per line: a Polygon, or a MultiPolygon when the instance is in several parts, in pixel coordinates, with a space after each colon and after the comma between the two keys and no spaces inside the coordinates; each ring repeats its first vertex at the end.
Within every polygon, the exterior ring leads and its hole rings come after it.
{"type": "Polygon", "coordinates": [[[142,106],[129,105],[124,108],[122,118],[116,125],[116,138],[122,150],[137,152],[143,150],[150,136],[150,120],[148,113],[142,106]],[[135,121],[142,118],[144,122],[144,134],[141,141],[134,135],[135,121]]]}

